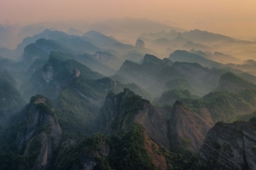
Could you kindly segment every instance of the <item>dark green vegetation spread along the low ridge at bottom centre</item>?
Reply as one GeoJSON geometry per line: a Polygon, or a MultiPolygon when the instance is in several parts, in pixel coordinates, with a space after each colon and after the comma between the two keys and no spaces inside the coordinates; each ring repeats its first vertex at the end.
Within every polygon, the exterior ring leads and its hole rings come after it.
{"type": "MultiPolygon", "coordinates": [[[[97,170],[156,170],[154,157],[148,151],[148,144],[150,140],[139,124],[133,124],[128,131],[109,137],[96,133],[91,138],[69,147],[62,144],[59,152],[61,154],[56,159],[54,169],[70,169],[73,165],[82,166],[81,160],[90,160],[96,163],[93,169],[97,170]]],[[[189,169],[196,161],[196,156],[189,151],[172,153],[157,144],[150,145],[154,154],[166,157],[168,170],[189,169]]]]}

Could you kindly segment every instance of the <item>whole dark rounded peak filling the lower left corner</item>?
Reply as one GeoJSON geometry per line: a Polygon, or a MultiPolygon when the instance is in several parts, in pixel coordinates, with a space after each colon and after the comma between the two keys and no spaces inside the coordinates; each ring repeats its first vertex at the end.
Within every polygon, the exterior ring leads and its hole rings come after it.
{"type": "Polygon", "coordinates": [[[61,127],[49,99],[32,97],[0,140],[1,169],[49,169],[61,142],[61,127]]]}

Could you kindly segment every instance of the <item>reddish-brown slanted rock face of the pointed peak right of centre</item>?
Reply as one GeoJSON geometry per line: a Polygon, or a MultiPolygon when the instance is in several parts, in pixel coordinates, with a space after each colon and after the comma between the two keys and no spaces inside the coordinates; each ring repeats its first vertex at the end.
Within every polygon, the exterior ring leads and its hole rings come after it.
{"type": "MultiPolygon", "coordinates": [[[[212,125],[182,102],[173,105],[169,123],[172,146],[198,152],[212,125]]],[[[175,150],[175,148],[172,148],[175,150]]]]}

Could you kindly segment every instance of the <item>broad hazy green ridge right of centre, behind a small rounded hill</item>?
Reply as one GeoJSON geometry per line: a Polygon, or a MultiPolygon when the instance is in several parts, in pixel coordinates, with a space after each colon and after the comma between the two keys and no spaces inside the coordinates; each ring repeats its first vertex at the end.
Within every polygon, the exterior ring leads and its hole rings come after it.
{"type": "Polygon", "coordinates": [[[125,77],[129,82],[135,82],[155,96],[163,94],[167,90],[166,82],[174,79],[187,80],[193,94],[204,95],[218,87],[223,71],[210,70],[196,63],[173,64],[170,59],[159,59],[146,54],[141,64],[126,60],[116,74],[125,77]]]}

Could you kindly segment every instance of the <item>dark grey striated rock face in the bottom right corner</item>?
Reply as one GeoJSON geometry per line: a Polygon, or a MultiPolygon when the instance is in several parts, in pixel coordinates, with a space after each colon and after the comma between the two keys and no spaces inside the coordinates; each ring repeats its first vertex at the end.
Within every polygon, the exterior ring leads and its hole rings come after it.
{"type": "Polygon", "coordinates": [[[205,169],[255,169],[255,120],[250,122],[218,122],[201,146],[199,162],[205,169]]]}

